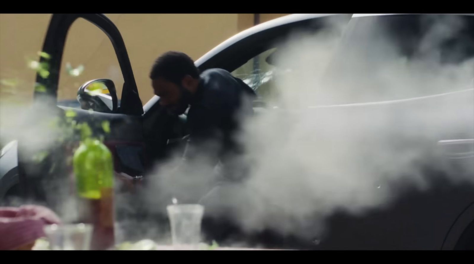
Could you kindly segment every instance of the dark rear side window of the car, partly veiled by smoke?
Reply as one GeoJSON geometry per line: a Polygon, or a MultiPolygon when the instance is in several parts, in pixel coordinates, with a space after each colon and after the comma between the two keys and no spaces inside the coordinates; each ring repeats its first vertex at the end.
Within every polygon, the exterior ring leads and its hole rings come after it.
{"type": "Polygon", "coordinates": [[[317,105],[401,100],[473,88],[474,17],[353,18],[317,105]]]}

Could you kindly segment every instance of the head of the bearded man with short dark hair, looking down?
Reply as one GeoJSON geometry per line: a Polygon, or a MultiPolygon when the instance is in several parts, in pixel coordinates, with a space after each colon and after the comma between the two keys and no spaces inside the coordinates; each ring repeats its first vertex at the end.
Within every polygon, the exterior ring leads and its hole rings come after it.
{"type": "Polygon", "coordinates": [[[174,114],[182,114],[199,85],[199,70],[188,55],[167,52],[156,59],[150,79],[160,104],[174,114]]]}

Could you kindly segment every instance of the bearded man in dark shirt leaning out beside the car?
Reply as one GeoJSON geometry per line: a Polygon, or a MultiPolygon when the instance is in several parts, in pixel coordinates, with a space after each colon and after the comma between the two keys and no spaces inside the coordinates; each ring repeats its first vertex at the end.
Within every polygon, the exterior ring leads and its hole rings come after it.
{"type": "Polygon", "coordinates": [[[241,179],[243,146],[236,141],[245,116],[253,113],[255,92],[242,80],[222,69],[200,74],[192,59],[180,52],[167,52],[154,63],[150,79],[159,104],[174,115],[189,107],[189,139],[184,159],[205,157],[223,165],[223,176],[241,179]]]}

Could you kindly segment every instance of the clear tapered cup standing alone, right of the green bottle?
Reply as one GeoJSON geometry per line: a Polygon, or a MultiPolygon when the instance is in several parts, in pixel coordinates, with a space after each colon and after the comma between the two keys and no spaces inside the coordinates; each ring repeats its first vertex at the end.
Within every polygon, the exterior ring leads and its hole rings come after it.
{"type": "Polygon", "coordinates": [[[171,224],[173,246],[193,248],[201,242],[201,221],[204,206],[200,204],[172,204],[166,208],[171,224]]]}

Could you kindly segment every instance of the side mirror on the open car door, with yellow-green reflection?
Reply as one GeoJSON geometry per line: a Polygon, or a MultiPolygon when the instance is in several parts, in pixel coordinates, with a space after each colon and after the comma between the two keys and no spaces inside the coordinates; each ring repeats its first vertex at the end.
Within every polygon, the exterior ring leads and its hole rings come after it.
{"type": "Polygon", "coordinates": [[[84,83],[77,91],[81,109],[100,113],[116,113],[118,98],[115,84],[110,79],[94,79],[84,83]]]}

